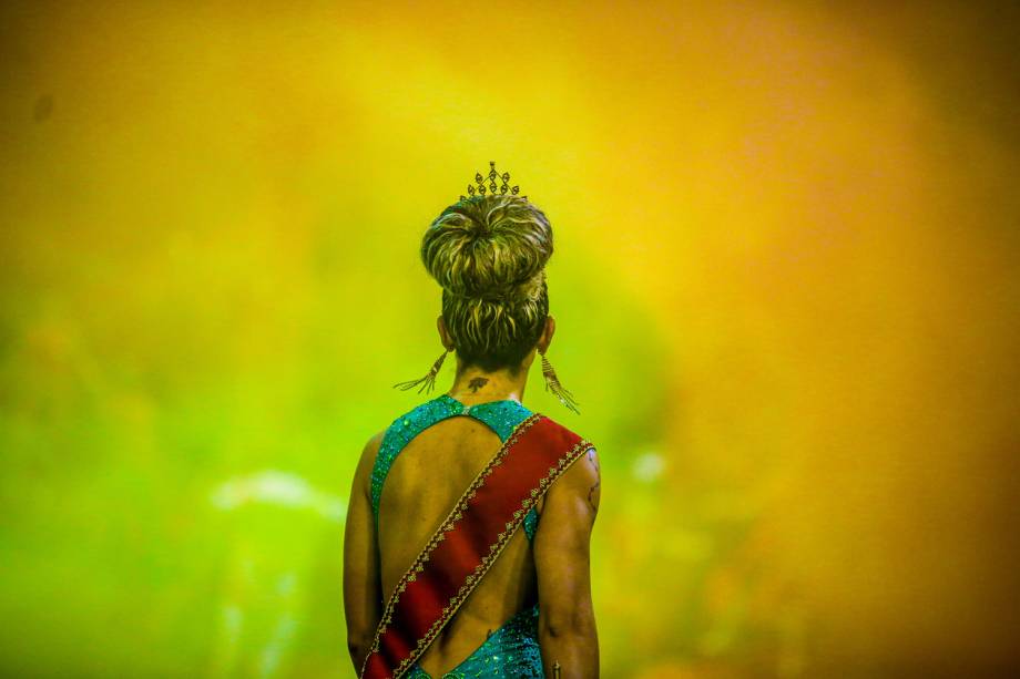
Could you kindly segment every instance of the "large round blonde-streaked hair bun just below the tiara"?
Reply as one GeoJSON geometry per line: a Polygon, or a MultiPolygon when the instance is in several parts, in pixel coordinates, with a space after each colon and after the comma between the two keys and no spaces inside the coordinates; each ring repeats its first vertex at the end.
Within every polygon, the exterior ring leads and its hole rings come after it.
{"type": "Polygon", "coordinates": [[[451,205],[432,222],[421,260],[457,297],[512,302],[533,300],[552,256],[545,215],[523,197],[484,196],[451,205]]]}

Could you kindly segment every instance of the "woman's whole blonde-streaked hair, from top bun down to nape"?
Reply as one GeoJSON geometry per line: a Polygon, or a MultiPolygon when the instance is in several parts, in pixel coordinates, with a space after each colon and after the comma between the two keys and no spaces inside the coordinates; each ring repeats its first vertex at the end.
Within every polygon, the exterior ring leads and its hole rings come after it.
{"type": "Polygon", "coordinates": [[[442,287],[442,318],[466,366],[516,371],[549,315],[549,219],[527,198],[471,196],[432,222],[421,261],[442,287]]]}

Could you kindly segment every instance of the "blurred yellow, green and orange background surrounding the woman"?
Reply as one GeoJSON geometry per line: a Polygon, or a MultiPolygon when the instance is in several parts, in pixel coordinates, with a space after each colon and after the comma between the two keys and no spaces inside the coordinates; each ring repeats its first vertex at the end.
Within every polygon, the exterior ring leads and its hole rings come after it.
{"type": "MultiPolygon", "coordinates": [[[[0,675],[353,677],[426,225],[545,209],[603,676],[1020,667],[1016,4],[7,2],[0,675]]],[[[439,385],[449,388],[448,364],[439,385]]]]}

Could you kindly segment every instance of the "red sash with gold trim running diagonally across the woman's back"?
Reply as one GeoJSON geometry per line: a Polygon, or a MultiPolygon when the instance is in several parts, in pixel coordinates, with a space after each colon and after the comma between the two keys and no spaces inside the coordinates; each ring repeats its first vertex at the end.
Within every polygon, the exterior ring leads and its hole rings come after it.
{"type": "Polygon", "coordinates": [[[399,679],[496,562],[536,501],[591,444],[549,418],[521,422],[394,590],[361,679],[399,679]]]}

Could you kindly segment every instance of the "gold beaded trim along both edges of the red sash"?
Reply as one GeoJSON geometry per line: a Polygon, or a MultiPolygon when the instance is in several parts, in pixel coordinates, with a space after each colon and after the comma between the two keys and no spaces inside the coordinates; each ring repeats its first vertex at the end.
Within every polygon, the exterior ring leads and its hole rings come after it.
{"type": "MultiPolygon", "coordinates": [[[[471,482],[471,485],[465,490],[463,494],[460,496],[460,500],[453,505],[453,508],[450,510],[449,515],[432,534],[431,539],[410,565],[404,576],[400,578],[400,582],[397,583],[396,589],[394,589],[392,596],[390,596],[389,603],[386,605],[385,610],[382,611],[382,618],[379,620],[379,626],[376,629],[376,636],[373,640],[371,648],[368,651],[368,655],[365,657],[365,662],[361,666],[361,672],[359,676],[364,677],[365,671],[368,668],[368,660],[378,652],[380,639],[382,635],[386,634],[387,628],[390,623],[392,623],[394,609],[397,606],[397,603],[400,599],[400,594],[407,589],[408,583],[414,583],[417,579],[417,574],[425,570],[425,564],[431,558],[432,552],[436,547],[439,546],[446,538],[446,534],[452,531],[457,523],[463,518],[463,511],[468,506],[468,502],[473,498],[478,492],[478,488],[484,483],[486,479],[492,473],[492,471],[499,466],[503,457],[507,456],[507,453],[510,451],[510,446],[520,439],[528,429],[531,428],[542,415],[540,413],[532,413],[526,418],[513,433],[503,442],[496,455],[489,461],[488,464],[478,473],[475,477],[475,481],[471,482]]],[[[549,486],[560,477],[560,475],[567,471],[570,464],[577,460],[577,457],[583,451],[592,447],[591,442],[581,440],[575,443],[567,453],[564,453],[558,463],[554,466],[550,466],[545,476],[539,482],[538,487],[531,490],[530,496],[521,501],[520,508],[513,512],[513,518],[506,524],[506,529],[500,533],[496,542],[489,546],[489,554],[483,556],[478,566],[475,567],[475,572],[465,578],[465,584],[460,586],[457,594],[455,594],[448,604],[442,608],[442,615],[432,623],[432,626],[429,630],[418,640],[418,645],[415,650],[405,658],[397,669],[394,671],[392,679],[399,679],[404,672],[406,672],[410,666],[421,656],[422,652],[429,647],[429,645],[436,639],[439,635],[439,631],[446,626],[446,624],[453,617],[457,610],[463,604],[465,599],[468,598],[468,595],[475,590],[475,587],[481,580],[482,576],[488,573],[489,568],[492,566],[496,558],[502,553],[503,548],[510,542],[510,537],[513,536],[514,531],[521,525],[527,516],[528,511],[531,506],[538,501],[539,496],[545,493],[549,490],[549,486]]]]}

